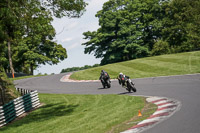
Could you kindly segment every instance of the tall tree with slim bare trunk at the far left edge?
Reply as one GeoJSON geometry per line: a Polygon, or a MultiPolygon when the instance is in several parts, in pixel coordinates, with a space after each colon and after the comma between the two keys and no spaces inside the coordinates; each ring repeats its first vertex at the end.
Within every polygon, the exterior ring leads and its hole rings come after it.
{"type": "Polygon", "coordinates": [[[11,57],[11,43],[13,42],[17,31],[20,29],[20,24],[18,23],[21,17],[23,9],[19,8],[19,4],[22,4],[22,1],[10,1],[10,0],[2,0],[0,2],[0,35],[2,36],[2,40],[0,43],[7,43],[8,50],[8,58],[11,72],[14,74],[14,68],[11,57]],[[18,3],[19,2],[19,3],[18,3]],[[13,8],[15,7],[15,8],[13,8]]]}

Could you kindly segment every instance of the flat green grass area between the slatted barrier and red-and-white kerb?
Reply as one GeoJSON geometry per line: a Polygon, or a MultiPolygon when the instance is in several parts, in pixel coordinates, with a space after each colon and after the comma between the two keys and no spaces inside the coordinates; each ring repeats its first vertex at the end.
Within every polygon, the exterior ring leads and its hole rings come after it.
{"type": "Polygon", "coordinates": [[[68,94],[40,94],[39,96],[44,106],[23,119],[0,128],[0,132],[105,133],[113,127],[112,132],[119,132],[136,124],[134,121],[144,119],[155,111],[155,108],[152,109],[155,105],[148,105],[151,110],[144,111],[143,117],[137,117],[138,110],[147,107],[142,97],[68,94]]]}

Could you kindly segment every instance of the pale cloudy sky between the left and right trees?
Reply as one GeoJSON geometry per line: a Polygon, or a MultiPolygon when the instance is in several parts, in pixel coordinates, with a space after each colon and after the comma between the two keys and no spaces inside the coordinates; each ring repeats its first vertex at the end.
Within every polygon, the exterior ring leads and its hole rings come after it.
{"type": "Polygon", "coordinates": [[[92,54],[84,54],[85,46],[81,45],[87,40],[83,39],[83,32],[96,31],[99,28],[97,11],[102,9],[103,3],[108,0],[85,0],[88,3],[86,12],[81,18],[55,18],[52,22],[56,30],[55,41],[67,50],[68,58],[57,65],[40,65],[34,71],[34,75],[58,74],[62,69],[70,67],[82,67],[84,65],[99,64],[101,59],[96,59],[92,54]]]}

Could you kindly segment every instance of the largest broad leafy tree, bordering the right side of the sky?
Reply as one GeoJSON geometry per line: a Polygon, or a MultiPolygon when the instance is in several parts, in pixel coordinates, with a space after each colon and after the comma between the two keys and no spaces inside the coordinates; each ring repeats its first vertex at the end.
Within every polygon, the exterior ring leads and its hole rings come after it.
{"type": "Polygon", "coordinates": [[[84,32],[86,54],[103,58],[101,64],[130,60],[149,55],[159,38],[162,11],[159,0],[109,0],[96,17],[100,28],[84,32]]]}

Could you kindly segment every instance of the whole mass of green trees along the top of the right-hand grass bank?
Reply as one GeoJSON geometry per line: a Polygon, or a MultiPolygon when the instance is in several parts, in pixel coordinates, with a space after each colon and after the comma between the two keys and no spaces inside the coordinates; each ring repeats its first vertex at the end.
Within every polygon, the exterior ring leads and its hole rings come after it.
{"type": "Polygon", "coordinates": [[[100,28],[84,32],[82,45],[101,64],[199,50],[199,7],[199,0],[109,0],[96,14],[100,28]]]}

